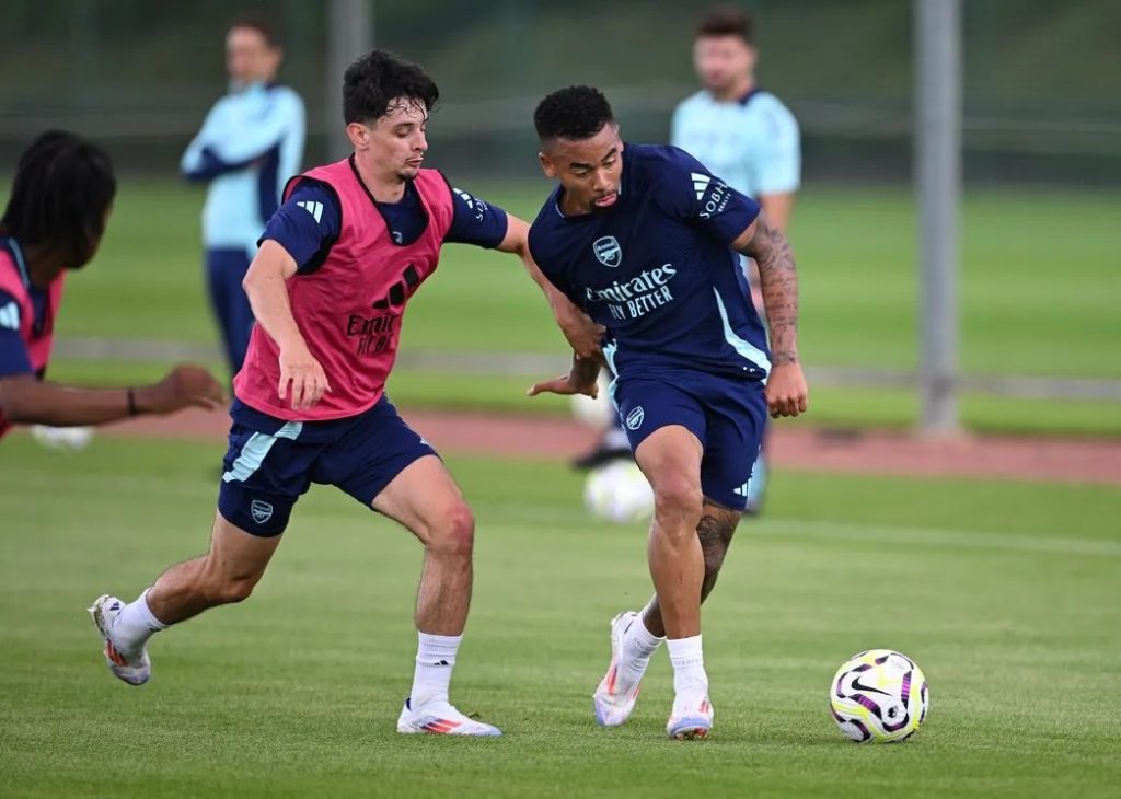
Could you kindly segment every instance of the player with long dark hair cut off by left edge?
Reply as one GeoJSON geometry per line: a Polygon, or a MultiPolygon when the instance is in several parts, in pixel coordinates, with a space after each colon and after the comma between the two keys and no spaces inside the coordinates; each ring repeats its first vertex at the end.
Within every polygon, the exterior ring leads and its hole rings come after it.
{"type": "Polygon", "coordinates": [[[74,133],[43,133],[20,156],[0,217],[0,437],[12,425],[65,429],[223,399],[217,381],[189,365],[136,388],[44,380],[66,272],[93,259],[115,193],[109,156],[74,133]]]}

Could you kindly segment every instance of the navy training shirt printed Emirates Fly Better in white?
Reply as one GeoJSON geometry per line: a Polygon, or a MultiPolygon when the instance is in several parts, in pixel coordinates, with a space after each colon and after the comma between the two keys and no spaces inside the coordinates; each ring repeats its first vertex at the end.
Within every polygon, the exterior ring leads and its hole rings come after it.
{"type": "Polygon", "coordinates": [[[529,229],[545,276],[608,328],[617,375],[697,369],[763,380],[767,334],[731,243],[759,205],[676,147],[624,145],[615,203],[565,216],[557,186],[529,229]]]}

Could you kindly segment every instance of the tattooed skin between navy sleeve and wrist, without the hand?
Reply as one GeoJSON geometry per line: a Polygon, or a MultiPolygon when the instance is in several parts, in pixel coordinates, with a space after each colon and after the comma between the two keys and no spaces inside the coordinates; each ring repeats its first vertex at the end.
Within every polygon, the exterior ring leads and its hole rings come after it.
{"type": "Polygon", "coordinates": [[[756,232],[743,253],[759,264],[767,324],[775,364],[798,362],[798,273],[790,242],[767,217],[756,220],[756,232]]]}

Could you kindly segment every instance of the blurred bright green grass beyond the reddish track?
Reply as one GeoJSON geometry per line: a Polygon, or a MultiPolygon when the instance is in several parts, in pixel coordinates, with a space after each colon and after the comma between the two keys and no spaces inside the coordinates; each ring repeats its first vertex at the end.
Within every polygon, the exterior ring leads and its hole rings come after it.
{"type": "MultiPolygon", "coordinates": [[[[454,182],[454,175],[451,176],[454,182]]],[[[465,182],[463,187],[531,220],[548,191],[534,184],[465,182]]],[[[98,259],[73,276],[61,338],[213,343],[198,244],[202,193],[151,179],[122,180],[98,259]]],[[[798,197],[791,240],[802,280],[800,345],[815,366],[914,369],[917,364],[915,210],[889,187],[810,188],[798,197]]],[[[961,276],[962,366],[967,373],[1121,378],[1117,312],[1117,220],[1121,193],[973,189],[964,207],[961,276]]],[[[520,263],[450,245],[409,306],[402,353],[553,355],[565,344],[520,263]]],[[[213,364],[221,368],[220,363],[213,364]]],[[[58,380],[115,383],[155,379],[164,364],[52,364],[58,380]]],[[[390,390],[406,405],[563,412],[563,400],[527,401],[531,377],[401,369],[390,390]]],[[[541,375],[548,377],[548,375],[541,375]]],[[[812,387],[813,388],[813,387],[812,387]]],[[[807,424],[911,425],[906,389],[814,388],[807,424]]],[[[981,430],[1121,435],[1104,401],[966,394],[963,418],[981,430]]]]}

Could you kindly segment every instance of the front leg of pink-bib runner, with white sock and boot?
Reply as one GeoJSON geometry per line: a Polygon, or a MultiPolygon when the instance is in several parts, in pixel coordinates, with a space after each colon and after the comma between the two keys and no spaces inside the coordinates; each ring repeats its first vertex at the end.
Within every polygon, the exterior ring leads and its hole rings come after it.
{"type": "Polygon", "coordinates": [[[400,733],[501,735],[448,702],[452,669],[471,606],[475,522],[443,462],[426,455],[409,464],[373,501],[425,547],[417,591],[419,638],[413,688],[397,719],[400,733]]]}

